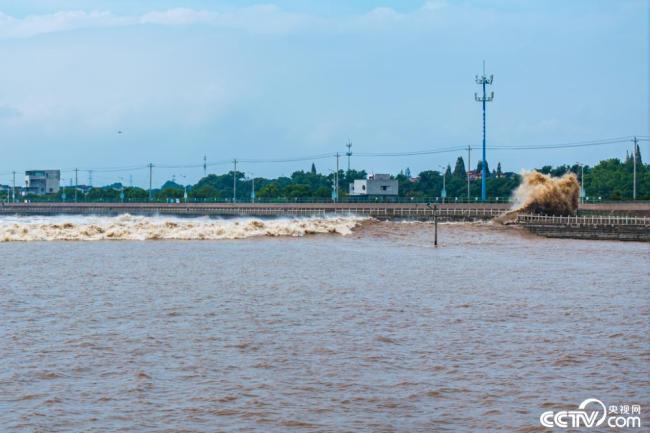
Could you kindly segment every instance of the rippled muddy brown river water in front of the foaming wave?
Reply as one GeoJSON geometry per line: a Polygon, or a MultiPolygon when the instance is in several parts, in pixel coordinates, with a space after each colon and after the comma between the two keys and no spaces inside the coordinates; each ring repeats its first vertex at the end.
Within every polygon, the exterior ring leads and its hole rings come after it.
{"type": "Polygon", "coordinates": [[[531,432],[590,397],[650,422],[648,244],[439,239],[0,243],[0,429],[531,432]]]}

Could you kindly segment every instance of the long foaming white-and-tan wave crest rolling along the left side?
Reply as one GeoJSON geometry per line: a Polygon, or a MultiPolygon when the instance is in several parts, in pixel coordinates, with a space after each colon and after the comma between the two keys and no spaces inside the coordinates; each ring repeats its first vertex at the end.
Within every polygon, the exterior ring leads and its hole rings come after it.
{"type": "Polygon", "coordinates": [[[349,235],[367,218],[174,218],[56,216],[0,218],[0,242],[219,240],[255,236],[349,235]]]}

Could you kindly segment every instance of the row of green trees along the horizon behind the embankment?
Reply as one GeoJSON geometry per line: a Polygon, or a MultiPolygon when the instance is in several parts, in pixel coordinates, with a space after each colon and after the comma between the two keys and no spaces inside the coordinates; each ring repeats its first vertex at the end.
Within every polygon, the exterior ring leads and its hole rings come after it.
{"type": "MultiPolygon", "coordinates": [[[[637,199],[650,200],[650,165],[644,164],[639,149],[637,155],[637,199]]],[[[475,201],[480,197],[481,180],[477,175],[481,172],[481,162],[476,170],[470,173],[470,200],[475,201]]],[[[521,182],[521,176],[512,172],[502,172],[501,164],[496,169],[490,170],[487,178],[487,193],[490,200],[507,200],[512,191],[521,182]]],[[[599,162],[596,166],[561,165],[558,167],[543,166],[538,171],[553,176],[562,176],[567,172],[576,173],[580,179],[584,172],[585,195],[589,200],[630,200],[632,199],[634,158],[627,155],[624,160],[617,158],[599,162]]],[[[352,200],[348,197],[348,185],[355,179],[364,179],[367,173],[363,170],[341,170],[339,176],[339,199],[352,200]]],[[[307,171],[296,171],[290,177],[267,179],[245,177],[242,172],[235,173],[236,200],[239,202],[251,201],[253,184],[255,196],[258,201],[329,201],[332,199],[332,186],[335,174],[322,174],[316,170],[314,164],[307,171]]],[[[435,200],[440,199],[443,183],[446,184],[447,201],[467,200],[467,172],[462,157],[456,160],[452,169],[425,170],[413,176],[408,169],[394,176],[399,182],[401,200],[435,200]],[[443,180],[444,179],[444,180],[443,180]]],[[[81,187],[80,187],[81,188],[81,187]]],[[[225,174],[210,174],[194,185],[180,185],[174,181],[167,181],[161,188],[152,192],[152,200],[170,201],[184,200],[187,194],[188,201],[214,202],[231,201],[233,197],[233,172],[225,174]]],[[[6,199],[8,192],[0,192],[0,198],[6,199]]],[[[100,188],[77,189],[78,201],[126,201],[142,202],[149,200],[149,191],[139,187],[124,187],[120,183],[100,188]]],[[[74,200],[75,189],[65,187],[59,194],[47,196],[27,196],[30,200],[61,200],[65,195],[66,201],[74,200]]],[[[357,199],[357,198],[354,198],[357,199]]]]}

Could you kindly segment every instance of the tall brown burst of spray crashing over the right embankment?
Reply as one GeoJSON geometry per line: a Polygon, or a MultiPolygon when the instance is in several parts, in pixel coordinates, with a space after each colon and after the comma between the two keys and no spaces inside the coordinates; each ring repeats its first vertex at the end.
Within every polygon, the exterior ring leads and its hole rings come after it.
{"type": "Polygon", "coordinates": [[[580,184],[575,174],[551,177],[537,171],[522,173],[522,182],[513,192],[513,208],[496,218],[513,221],[520,213],[575,215],[578,211],[580,184]]]}

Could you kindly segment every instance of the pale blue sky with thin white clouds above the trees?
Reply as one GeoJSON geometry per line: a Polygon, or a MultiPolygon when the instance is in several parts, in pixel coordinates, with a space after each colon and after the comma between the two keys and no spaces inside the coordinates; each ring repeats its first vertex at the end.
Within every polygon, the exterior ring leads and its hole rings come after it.
{"type": "MultiPolygon", "coordinates": [[[[94,184],[146,185],[148,163],[154,185],[193,183],[204,155],[209,172],[305,157],[238,169],[328,173],[334,157],[309,157],[348,140],[352,168],[368,172],[416,174],[467,152],[363,153],[468,145],[475,166],[483,60],[488,146],[650,136],[648,0],[269,1],[0,0],[0,184],[51,168],[68,183],[79,168],[79,183],[93,170],[94,184]]],[[[631,148],[487,159],[520,171],[631,148]]]]}

